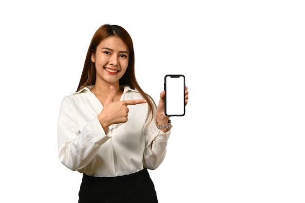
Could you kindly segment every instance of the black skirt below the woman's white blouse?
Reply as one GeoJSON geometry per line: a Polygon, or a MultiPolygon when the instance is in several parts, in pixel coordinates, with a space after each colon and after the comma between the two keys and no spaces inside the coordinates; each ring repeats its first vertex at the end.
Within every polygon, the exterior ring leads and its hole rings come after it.
{"type": "Polygon", "coordinates": [[[92,177],[83,174],[78,197],[78,203],[158,203],[146,168],[117,177],[92,177]]]}

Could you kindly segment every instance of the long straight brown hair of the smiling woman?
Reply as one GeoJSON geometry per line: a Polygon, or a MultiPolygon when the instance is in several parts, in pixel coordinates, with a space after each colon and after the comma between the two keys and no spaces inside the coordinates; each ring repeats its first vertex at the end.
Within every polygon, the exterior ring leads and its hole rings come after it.
{"type": "Polygon", "coordinates": [[[133,40],[129,33],[123,27],[118,25],[104,24],[95,32],[88,48],[84,69],[82,71],[76,92],[88,85],[95,85],[96,70],[95,63],[91,61],[91,55],[95,54],[96,47],[102,40],[111,36],[121,38],[129,49],[128,67],[125,74],[119,79],[119,85],[129,85],[133,90],[136,89],[138,92],[140,92],[144,99],[147,100],[149,109],[153,115],[153,105],[155,106],[155,103],[152,97],[141,89],[135,78],[133,40]]]}

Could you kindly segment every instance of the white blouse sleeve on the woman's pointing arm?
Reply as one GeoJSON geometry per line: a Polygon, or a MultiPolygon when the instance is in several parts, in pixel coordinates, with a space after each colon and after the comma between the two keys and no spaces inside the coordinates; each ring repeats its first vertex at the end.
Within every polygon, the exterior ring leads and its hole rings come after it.
{"type": "Polygon", "coordinates": [[[87,166],[100,146],[110,138],[96,116],[80,129],[74,112],[65,100],[60,106],[57,137],[59,160],[71,170],[87,166]]]}

